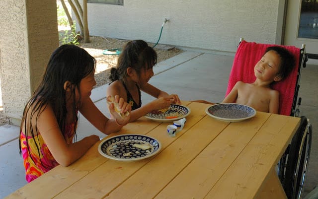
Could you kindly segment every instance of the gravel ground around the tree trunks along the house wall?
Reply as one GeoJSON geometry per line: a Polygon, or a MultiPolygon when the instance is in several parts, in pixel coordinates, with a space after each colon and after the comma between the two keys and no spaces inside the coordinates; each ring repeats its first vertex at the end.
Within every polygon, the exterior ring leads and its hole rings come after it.
{"type": "MultiPolygon", "coordinates": [[[[79,44],[79,46],[84,48],[91,56],[93,56],[97,60],[95,72],[95,79],[97,84],[95,87],[99,87],[109,82],[109,70],[111,67],[116,66],[118,59],[118,55],[103,55],[103,51],[106,49],[122,48],[127,43],[127,41],[97,36],[91,36],[90,41],[91,42],[87,44],[81,43],[79,44]]],[[[154,44],[149,45],[153,46],[154,44]]],[[[160,50],[155,48],[155,50],[158,54],[158,63],[182,53],[182,50],[176,48],[171,48],[171,50],[160,50]]],[[[10,119],[6,117],[3,114],[3,111],[0,109],[0,126],[3,126],[5,124],[11,124],[11,122],[10,119]]]]}

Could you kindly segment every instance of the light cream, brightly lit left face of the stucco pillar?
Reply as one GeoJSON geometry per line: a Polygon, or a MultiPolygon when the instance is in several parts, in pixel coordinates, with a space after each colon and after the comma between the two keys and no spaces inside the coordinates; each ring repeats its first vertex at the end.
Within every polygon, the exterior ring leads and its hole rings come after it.
{"type": "Polygon", "coordinates": [[[4,113],[20,118],[30,96],[30,76],[23,0],[0,3],[0,80],[4,113]]]}

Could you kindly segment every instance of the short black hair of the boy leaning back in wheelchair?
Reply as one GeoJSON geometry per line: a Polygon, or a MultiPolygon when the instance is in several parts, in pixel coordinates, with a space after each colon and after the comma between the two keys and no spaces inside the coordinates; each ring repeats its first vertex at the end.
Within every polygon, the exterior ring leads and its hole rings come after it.
{"type": "Polygon", "coordinates": [[[275,51],[279,55],[281,65],[279,67],[278,74],[281,75],[282,79],[286,78],[295,66],[295,58],[293,54],[291,54],[287,49],[280,46],[268,47],[265,50],[265,53],[267,53],[268,51],[275,51]]]}

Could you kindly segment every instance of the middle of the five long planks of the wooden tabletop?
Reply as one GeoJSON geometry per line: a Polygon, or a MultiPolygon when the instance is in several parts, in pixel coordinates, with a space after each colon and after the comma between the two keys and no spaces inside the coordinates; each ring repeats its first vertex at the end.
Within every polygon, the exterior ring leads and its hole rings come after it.
{"type": "Polygon", "coordinates": [[[105,199],[154,198],[229,124],[205,116],[105,199]]]}

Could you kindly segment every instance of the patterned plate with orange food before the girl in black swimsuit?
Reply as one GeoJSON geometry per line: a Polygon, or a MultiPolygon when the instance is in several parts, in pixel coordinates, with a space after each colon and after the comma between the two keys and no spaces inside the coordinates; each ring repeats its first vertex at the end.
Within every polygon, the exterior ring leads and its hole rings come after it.
{"type": "Polygon", "coordinates": [[[145,115],[145,117],[157,122],[173,122],[187,117],[189,114],[190,109],[188,107],[178,104],[171,104],[169,108],[152,111],[145,115]]]}

